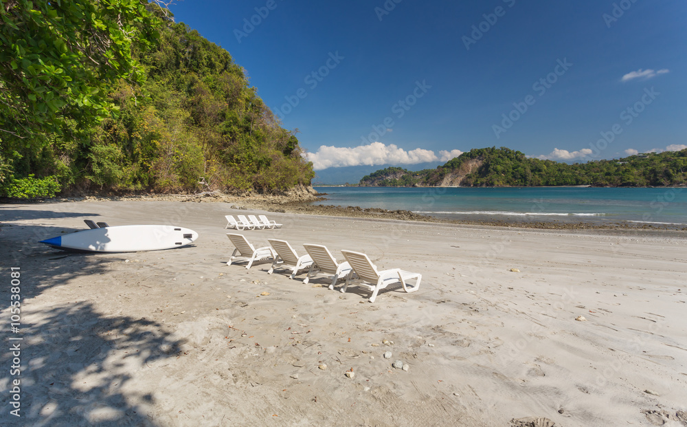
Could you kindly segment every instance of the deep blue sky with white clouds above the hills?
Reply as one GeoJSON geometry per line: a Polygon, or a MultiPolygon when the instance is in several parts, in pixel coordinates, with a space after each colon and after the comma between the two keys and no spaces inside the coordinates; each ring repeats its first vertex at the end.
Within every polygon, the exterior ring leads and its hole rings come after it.
{"type": "Polygon", "coordinates": [[[185,0],[316,171],[687,148],[684,0],[185,0]]]}

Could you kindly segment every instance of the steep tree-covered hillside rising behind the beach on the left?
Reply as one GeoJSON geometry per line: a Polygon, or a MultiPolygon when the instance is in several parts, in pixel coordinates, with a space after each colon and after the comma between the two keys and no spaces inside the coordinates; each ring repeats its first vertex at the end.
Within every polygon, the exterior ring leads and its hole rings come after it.
{"type": "Polygon", "coordinates": [[[310,184],[245,70],[158,3],[0,1],[0,196],[310,184]]]}

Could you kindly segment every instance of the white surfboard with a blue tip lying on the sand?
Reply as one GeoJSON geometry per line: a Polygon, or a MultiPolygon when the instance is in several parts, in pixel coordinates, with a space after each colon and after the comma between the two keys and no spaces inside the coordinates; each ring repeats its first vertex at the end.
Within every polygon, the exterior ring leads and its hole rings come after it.
{"type": "Polygon", "coordinates": [[[176,226],[115,226],[83,230],[42,240],[53,248],[88,252],[139,252],[181,248],[198,233],[176,226]]]}

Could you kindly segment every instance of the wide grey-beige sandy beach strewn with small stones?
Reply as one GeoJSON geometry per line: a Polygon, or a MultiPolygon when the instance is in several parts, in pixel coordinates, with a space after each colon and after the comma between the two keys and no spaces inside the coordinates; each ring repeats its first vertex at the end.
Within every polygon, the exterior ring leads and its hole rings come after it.
{"type": "Polygon", "coordinates": [[[686,232],[231,206],[0,205],[0,425],[687,426],[686,232]],[[420,289],[389,287],[369,303],[365,289],[330,290],[324,276],[304,284],[305,273],[267,274],[270,263],[227,266],[224,215],[253,213],[284,224],[240,232],[256,247],[276,238],[299,254],[303,243],[339,260],[342,249],[365,252],[380,269],[423,274],[420,289]],[[200,237],[126,254],[38,243],[84,219],[200,237]],[[12,375],[17,342],[21,375],[12,375]],[[10,413],[17,394],[21,417],[10,413]]]}

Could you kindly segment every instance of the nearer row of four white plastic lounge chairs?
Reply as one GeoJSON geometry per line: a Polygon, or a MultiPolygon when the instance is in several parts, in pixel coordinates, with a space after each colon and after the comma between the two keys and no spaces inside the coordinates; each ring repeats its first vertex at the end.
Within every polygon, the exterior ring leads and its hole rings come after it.
{"type": "Polygon", "coordinates": [[[308,254],[298,256],[285,240],[267,239],[269,246],[255,248],[243,234],[227,233],[227,237],[236,247],[227,265],[232,265],[236,261],[247,261],[246,268],[249,269],[255,261],[272,260],[267,274],[272,274],[278,268],[289,268],[291,270],[289,278],[295,278],[300,270],[308,268],[308,275],[303,283],[308,283],[317,274],[326,274],[332,278],[329,289],[334,289],[339,278],[345,277],[346,283],[341,287],[341,292],[346,292],[348,285],[352,284],[364,287],[372,292],[369,298],[370,303],[374,303],[381,289],[394,283],[401,283],[405,292],[415,292],[419,289],[423,278],[422,274],[407,272],[400,268],[379,271],[370,258],[362,252],[341,250],[346,261],[339,263],[323,245],[306,243],[303,247],[308,254]],[[414,285],[407,283],[413,280],[414,285]]]}

